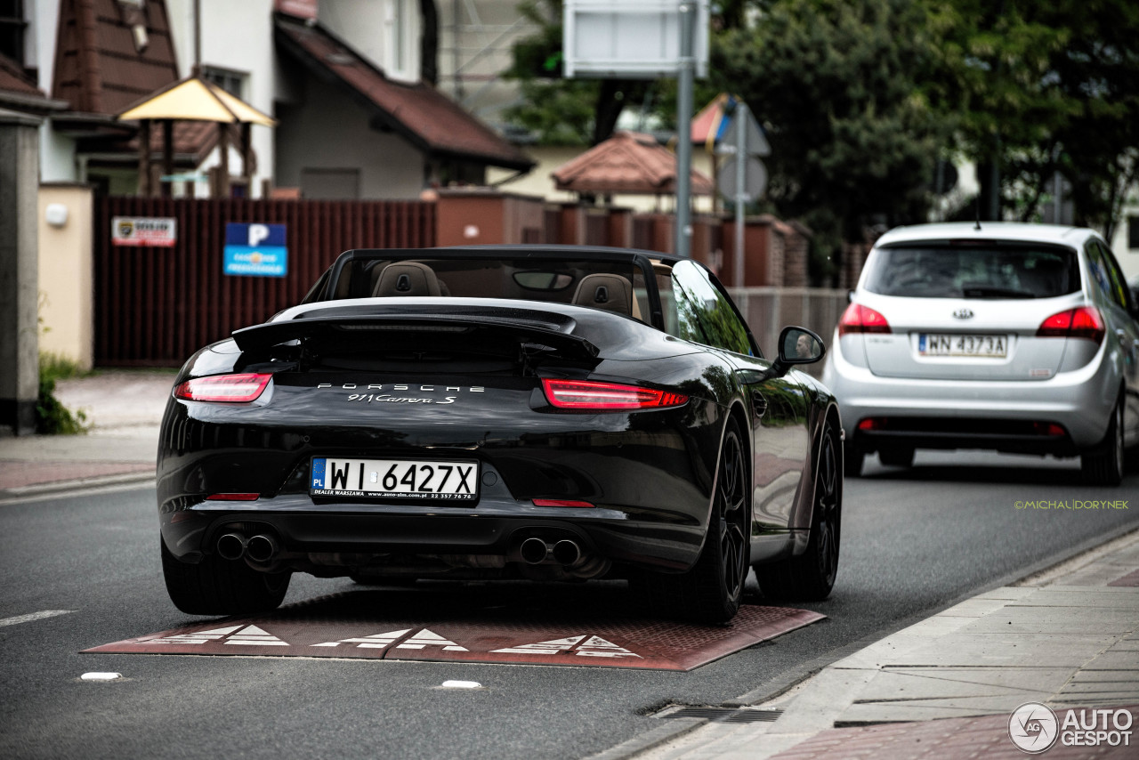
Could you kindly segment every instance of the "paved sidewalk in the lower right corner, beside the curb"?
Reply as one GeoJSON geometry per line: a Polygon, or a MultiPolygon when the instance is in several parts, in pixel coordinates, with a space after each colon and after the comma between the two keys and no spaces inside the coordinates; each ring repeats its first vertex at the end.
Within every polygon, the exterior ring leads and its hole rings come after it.
{"type": "Polygon", "coordinates": [[[1139,757],[1139,531],[833,663],[761,703],[784,710],[775,721],[697,724],[625,757],[1021,758],[1009,718],[1026,702],[1048,705],[1059,721],[1042,757],[1139,757]],[[1115,746],[1071,745],[1070,709],[1090,722],[1092,710],[1120,708],[1131,713],[1118,718],[1130,724],[1129,745],[1122,734],[1115,746]]]}

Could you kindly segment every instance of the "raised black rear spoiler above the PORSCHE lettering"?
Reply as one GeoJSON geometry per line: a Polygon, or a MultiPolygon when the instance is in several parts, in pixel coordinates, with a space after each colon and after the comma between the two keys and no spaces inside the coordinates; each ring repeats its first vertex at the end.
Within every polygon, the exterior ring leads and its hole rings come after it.
{"type": "MultiPolygon", "coordinates": [[[[369,314],[369,316],[336,316],[336,317],[300,317],[279,322],[267,322],[255,327],[246,327],[233,332],[233,341],[241,351],[252,353],[268,352],[273,346],[292,341],[309,343],[310,341],[326,340],[337,342],[352,333],[367,332],[395,332],[415,333],[431,332],[433,328],[441,333],[462,333],[470,330],[494,330],[498,333],[513,333],[519,344],[526,346],[527,352],[535,352],[546,349],[554,351],[567,359],[596,359],[599,349],[583,337],[567,332],[572,329],[574,321],[565,318],[564,321],[549,321],[535,324],[532,320],[511,318],[502,314],[369,314]]],[[[319,345],[310,346],[316,353],[320,353],[319,345]]]]}

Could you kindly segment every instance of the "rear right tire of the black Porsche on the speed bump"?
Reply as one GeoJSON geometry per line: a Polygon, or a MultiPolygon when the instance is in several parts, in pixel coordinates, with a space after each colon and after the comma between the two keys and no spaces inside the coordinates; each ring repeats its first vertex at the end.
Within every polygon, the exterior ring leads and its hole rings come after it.
{"type": "Polygon", "coordinates": [[[726,623],[739,612],[751,551],[749,473],[739,426],[729,420],[720,447],[712,515],[696,564],[687,573],[645,572],[630,579],[653,613],[726,623]]]}

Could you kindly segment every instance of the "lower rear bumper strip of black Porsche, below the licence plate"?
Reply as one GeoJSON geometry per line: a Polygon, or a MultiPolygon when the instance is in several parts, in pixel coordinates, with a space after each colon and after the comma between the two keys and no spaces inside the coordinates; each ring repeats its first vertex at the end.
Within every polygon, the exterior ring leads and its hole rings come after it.
{"type": "Polygon", "coordinates": [[[699,525],[646,522],[620,509],[495,505],[485,498],[475,508],[314,507],[306,501],[276,497],[240,509],[203,502],[163,514],[162,536],[173,556],[197,562],[216,551],[218,539],[227,533],[268,534],[286,564],[316,562],[341,569],[328,574],[343,574],[364,565],[408,566],[416,557],[477,555],[519,562],[522,542],[528,538],[549,545],[570,539],[587,556],[686,570],[696,561],[704,533],[699,525]]]}

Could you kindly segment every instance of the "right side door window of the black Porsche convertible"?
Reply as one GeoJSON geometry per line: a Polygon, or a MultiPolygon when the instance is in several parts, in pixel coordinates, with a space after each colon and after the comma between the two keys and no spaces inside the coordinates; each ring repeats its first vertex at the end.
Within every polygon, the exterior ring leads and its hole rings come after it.
{"type": "Polygon", "coordinates": [[[700,267],[681,261],[672,268],[678,337],[736,353],[751,353],[747,328],[700,267]]]}

